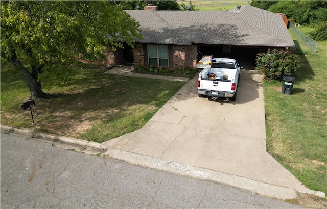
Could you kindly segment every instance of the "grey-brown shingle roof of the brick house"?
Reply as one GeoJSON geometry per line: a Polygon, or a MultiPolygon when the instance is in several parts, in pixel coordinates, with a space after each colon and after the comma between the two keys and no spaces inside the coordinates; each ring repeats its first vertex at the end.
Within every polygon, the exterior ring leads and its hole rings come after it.
{"type": "Polygon", "coordinates": [[[293,47],[280,15],[243,6],[227,11],[126,10],[141,25],[139,43],[293,47]]]}

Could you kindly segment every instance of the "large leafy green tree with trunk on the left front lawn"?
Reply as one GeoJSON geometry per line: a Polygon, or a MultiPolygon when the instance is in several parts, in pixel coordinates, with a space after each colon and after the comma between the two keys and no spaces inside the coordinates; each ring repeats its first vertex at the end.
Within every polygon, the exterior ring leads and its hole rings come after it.
{"type": "Polygon", "coordinates": [[[104,47],[133,46],[138,28],[107,1],[1,1],[1,58],[27,81],[30,99],[50,98],[41,87],[45,71],[58,80],[76,55],[95,58],[104,47]]]}

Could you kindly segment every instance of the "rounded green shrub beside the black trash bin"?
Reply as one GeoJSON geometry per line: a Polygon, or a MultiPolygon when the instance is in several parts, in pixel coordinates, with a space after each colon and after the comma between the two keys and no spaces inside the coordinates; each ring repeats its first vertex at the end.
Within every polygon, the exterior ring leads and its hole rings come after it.
{"type": "Polygon", "coordinates": [[[256,54],[256,70],[268,80],[282,80],[301,66],[300,57],[292,51],[268,49],[267,53],[256,54]]]}

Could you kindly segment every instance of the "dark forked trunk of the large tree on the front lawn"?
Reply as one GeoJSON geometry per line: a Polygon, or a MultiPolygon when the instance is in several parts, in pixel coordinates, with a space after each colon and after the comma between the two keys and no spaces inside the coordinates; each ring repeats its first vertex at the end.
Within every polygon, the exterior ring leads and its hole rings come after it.
{"type": "Polygon", "coordinates": [[[32,73],[30,73],[24,65],[20,63],[17,59],[17,55],[15,51],[12,51],[12,55],[10,57],[10,62],[14,65],[16,69],[19,70],[20,74],[24,77],[27,81],[29,88],[30,88],[30,98],[29,100],[34,100],[37,98],[49,99],[50,94],[46,94],[42,91],[41,82],[38,80],[39,73],[42,72],[43,66],[36,67],[32,65],[32,73]]]}

